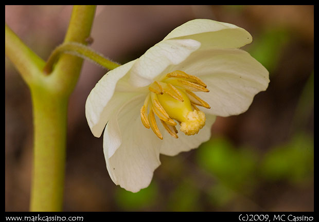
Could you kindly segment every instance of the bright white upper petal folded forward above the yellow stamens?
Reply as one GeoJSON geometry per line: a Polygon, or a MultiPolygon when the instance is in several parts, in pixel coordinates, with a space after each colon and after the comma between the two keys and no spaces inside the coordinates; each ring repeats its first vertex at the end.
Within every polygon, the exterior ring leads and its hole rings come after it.
{"type": "Polygon", "coordinates": [[[197,50],[200,43],[194,40],[168,40],[148,49],[133,65],[130,75],[136,87],[151,84],[169,65],[184,61],[197,50]]]}

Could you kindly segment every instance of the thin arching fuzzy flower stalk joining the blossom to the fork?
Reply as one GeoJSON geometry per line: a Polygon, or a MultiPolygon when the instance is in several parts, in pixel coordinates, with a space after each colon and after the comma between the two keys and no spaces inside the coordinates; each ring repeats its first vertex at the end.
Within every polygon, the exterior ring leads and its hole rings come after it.
{"type": "Polygon", "coordinates": [[[62,53],[69,53],[76,55],[78,57],[83,57],[89,59],[107,69],[115,69],[116,67],[120,66],[118,63],[112,62],[107,58],[103,57],[102,54],[95,52],[93,49],[74,42],[67,42],[60,46],[58,46],[50,55],[43,71],[45,73],[50,73],[52,71],[52,67],[55,62],[58,60],[60,54],[62,53]]]}

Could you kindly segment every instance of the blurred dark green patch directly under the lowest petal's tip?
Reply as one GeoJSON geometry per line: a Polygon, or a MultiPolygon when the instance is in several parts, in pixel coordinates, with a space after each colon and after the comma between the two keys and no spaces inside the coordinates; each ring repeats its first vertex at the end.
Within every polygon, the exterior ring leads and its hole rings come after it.
{"type": "Polygon", "coordinates": [[[153,181],[150,186],[137,193],[118,188],[115,192],[115,200],[119,207],[127,211],[138,211],[152,206],[156,202],[157,186],[153,181]]]}

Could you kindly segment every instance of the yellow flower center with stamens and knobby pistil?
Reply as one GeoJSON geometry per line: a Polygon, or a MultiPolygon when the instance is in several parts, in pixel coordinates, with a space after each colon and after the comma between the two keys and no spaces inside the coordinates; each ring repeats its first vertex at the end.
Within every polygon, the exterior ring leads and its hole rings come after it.
{"type": "Polygon", "coordinates": [[[178,138],[175,125],[185,135],[194,135],[205,125],[205,114],[197,108],[210,108],[208,103],[199,98],[193,91],[209,92],[206,84],[196,76],[183,71],[173,71],[160,81],[149,86],[149,94],[140,109],[140,117],[146,128],[151,128],[156,136],[163,139],[158,129],[155,115],[161,120],[165,130],[174,138],[178,138]],[[148,112],[149,110],[149,112],[148,112]]]}

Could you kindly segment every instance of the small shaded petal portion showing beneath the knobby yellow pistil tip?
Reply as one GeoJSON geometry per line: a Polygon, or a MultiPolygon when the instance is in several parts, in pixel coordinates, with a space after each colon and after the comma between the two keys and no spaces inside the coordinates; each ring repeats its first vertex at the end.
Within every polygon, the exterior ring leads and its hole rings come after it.
{"type": "MultiPolygon", "coordinates": [[[[215,122],[216,116],[205,114],[205,126],[199,131],[198,134],[193,136],[186,136],[183,132],[179,132],[178,139],[173,138],[167,132],[163,134],[163,144],[161,147],[161,154],[168,156],[175,156],[180,152],[190,151],[197,148],[203,142],[209,140],[211,133],[211,125],[215,122]]],[[[177,127],[178,128],[178,127],[177,127]]],[[[179,129],[178,129],[179,130],[179,129]]],[[[161,128],[161,132],[164,132],[161,128]]]]}

